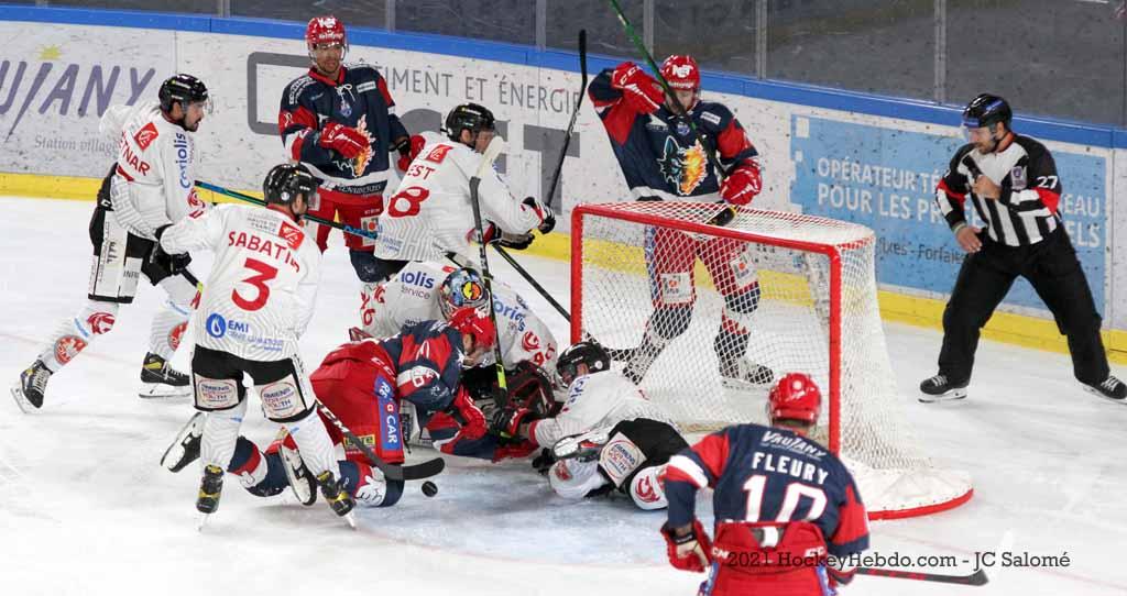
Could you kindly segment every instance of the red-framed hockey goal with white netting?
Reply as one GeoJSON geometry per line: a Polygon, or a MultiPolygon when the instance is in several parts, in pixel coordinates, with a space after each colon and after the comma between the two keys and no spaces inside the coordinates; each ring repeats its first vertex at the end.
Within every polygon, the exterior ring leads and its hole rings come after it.
{"type": "Polygon", "coordinates": [[[571,340],[595,338],[611,348],[615,367],[637,373],[631,361],[644,337],[672,336],[640,386],[690,433],[766,422],[770,384],[733,376],[730,365],[721,373],[720,361],[734,353],[742,371],[809,374],[824,397],[815,438],[850,468],[871,518],[926,515],[969,499],[969,477],[934,466],[909,428],[880,324],[872,230],[748,208],[724,226],[708,224],[725,210],[576,207],[571,340]]]}

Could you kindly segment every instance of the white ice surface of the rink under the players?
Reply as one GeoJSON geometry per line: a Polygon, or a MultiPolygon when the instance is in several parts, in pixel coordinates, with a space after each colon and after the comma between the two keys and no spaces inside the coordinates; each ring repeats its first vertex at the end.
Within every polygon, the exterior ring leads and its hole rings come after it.
{"type": "MultiPolygon", "coordinates": [[[[5,389],[85,299],[91,208],[0,198],[5,389]]],[[[356,319],[357,283],[332,241],[303,344],[311,363],[346,340],[356,319]]],[[[520,258],[567,304],[564,263],[520,258]]],[[[208,261],[196,256],[202,278],[208,261]]],[[[495,267],[566,341],[565,321],[499,259],[495,267]]],[[[525,461],[447,459],[435,498],[409,483],[396,507],[357,509],[356,532],[323,502],[252,497],[229,477],[219,513],[196,532],[197,468],[172,474],[158,465],[192,406],[136,397],[160,297],[141,286],[113,333],[51,380],[43,410],[23,415],[7,391],[0,395],[0,595],[656,596],[694,594],[703,578],[666,564],[663,514],[623,501],[566,504],[525,461]]],[[[996,566],[980,588],[858,577],[843,594],[1127,594],[1127,566],[1117,562],[1127,544],[1127,408],[1083,392],[1064,355],[988,341],[970,398],[924,407],[915,386],[934,373],[939,332],[898,324],[886,332],[926,452],[970,471],[975,497],[931,517],[872,523],[870,552],[955,555],[955,568],[912,568],[946,573],[969,573],[976,551],[1066,553],[1070,564],[996,566]]],[[[181,371],[186,352],[174,361],[181,371]]],[[[273,437],[274,426],[249,411],[243,434],[273,437]]],[[[701,509],[708,526],[707,500],[701,509]]]]}

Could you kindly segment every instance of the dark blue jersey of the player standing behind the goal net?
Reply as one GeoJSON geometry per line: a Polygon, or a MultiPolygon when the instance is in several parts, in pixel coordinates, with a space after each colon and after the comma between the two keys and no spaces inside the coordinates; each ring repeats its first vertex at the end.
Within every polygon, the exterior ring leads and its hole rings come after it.
{"type": "MultiPolygon", "coordinates": [[[[684,197],[719,198],[720,185],[704,146],[693,135],[685,116],[662,106],[640,114],[622,100],[611,83],[614,69],[605,69],[587,88],[598,117],[611,139],[614,157],[635,198],[684,201],[684,197]]],[[[698,101],[689,110],[696,130],[717,151],[727,170],[758,154],[744,127],[727,107],[698,101]]]]}

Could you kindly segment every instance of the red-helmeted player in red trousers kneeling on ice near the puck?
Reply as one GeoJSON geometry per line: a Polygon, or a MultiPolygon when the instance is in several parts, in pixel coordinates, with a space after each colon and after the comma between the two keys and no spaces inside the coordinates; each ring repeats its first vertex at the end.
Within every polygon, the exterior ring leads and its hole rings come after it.
{"type": "MultiPolygon", "coordinates": [[[[474,443],[486,437],[487,428],[485,416],[459,389],[459,377],[463,366],[481,362],[492,348],[494,337],[488,317],[474,309],[460,309],[449,323],[421,321],[389,338],[344,344],[325,357],[310,380],[321,403],[384,462],[402,464],[405,435],[443,411],[463,425],[435,446],[461,455],[463,448],[477,448],[474,443]]],[[[165,455],[166,468],[177,471],[195,457],[198,426],[198,420],[193,420],[180,432],[165,455]]],[[[394,505],[403,481],[385,479],[362,451],[345,444],[336,426],[328,428],[341,446],[337,456],[343,460],[338,465],[345,491],[361,505],[394,505]]],[[[227,470],[239,475],[252,495],[274,496],[289,483],[300,501],[312,505],[317,495],[303,460],[309,461],[305,447],[284,435],[265,453],[239,437],[227,470]]]]}

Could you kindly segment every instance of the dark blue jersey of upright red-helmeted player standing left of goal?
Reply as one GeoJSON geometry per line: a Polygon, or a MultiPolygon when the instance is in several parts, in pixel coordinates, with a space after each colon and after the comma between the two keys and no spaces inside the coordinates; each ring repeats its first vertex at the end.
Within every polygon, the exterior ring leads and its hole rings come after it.
{"type": "Polygon", "coordinates": [[[382,194],[388,185],[388,151],[409,137],[396,116],[387,81],[367,64],[341,66],[335,81],[314,69],[291,81],[282,92],[278,132],[290,159],[301,161],[335,190],[349,195],[382,194]],[[345,159],[321,146],[321,128],[329,122],[365,133],[369,149],[345,159]]]}

